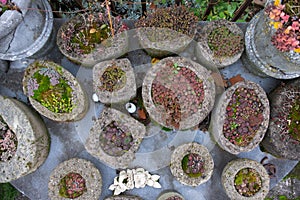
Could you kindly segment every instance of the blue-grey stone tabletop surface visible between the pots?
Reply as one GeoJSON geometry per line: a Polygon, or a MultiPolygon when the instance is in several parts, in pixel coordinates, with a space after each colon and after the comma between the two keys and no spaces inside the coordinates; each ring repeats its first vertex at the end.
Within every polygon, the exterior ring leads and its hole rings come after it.
{"type": "MultiPolygon", "coordinates": [[[[62,20],[55,20],[55,31],[61,26],[62,20]]],[[[246,24],[239,24],[245,30],[246,24]]],[[[133,64],[136,74],[137,85],[141,86],[143,77],[147,70],[151,67],[151,58],[139,49],[136,39],[130,39],[131,48],[125,57],[133,64]]],[[[181,56],[195,60],[192,45],[182,53],[181,56]]],[[[118,170],[109,167],[106,163],[102,163],[92,157],[84,148],[84,143],[88,137],[89,130],[94,120],[99,116],[103,109],[103,104],[94,103],[92,101],[92,70],[80,67],[67,60],[58,50],[57,46],[42,57],[61,64],[69,70],[83,84],[90,99],[90,109],[87,115],[78,122],[58,123],[43,117],[51,136],[51,147],[46,162],[34,173],[27,175],[11,183],[24,193],[30,199],[47,200],[48,197],[48,181],[49,175],[54,168],[61,162],[77,157],[84,158],[99,169],[102,174],[103,186],[102,194],[99,199],[104,199],[112,195],[112,191],[108,187],[113,183],[114,177],[118,170]]],[[[14,97],[20,101],[28,103],[28,99],[22,92],[21,80],[23,77],[24,67],[33,62],[33,59],[24,59],[10,63],[8,72],[0,71],[0,94],[4,96],[14,97]]],[[[260,84],[266,92],[270,92],[279,84],[279,81],[273,78],[261,78],[251,74],[239,60],[237,63],[220,70],[224,78],[231,78],[240,74],[243,78],[260,84]]],[[[117,107],[116,107],[117,108],[117,107]]],[[[262,152],[259,147],[251,152],[241,153],[237,156],[229,154],[220,149],[211,139],[209,132],[198,130],[187,131],[169,131],[166,132],[157,127],[153,123],[147,126],[147,136],[144,138],[139,151],[136,153],[136,159],[131,163],[131,168],[143,167],[152,174],[161,176],[159,182],[161,189],[150,188],[146,186],[142,189],[133,189],[125,192],[125,194],[138,195],[145,200],[156,199],[164,190],[175,190],[181,193],[185,199],[194,200],[226,200],[226,196],[221,186],[221,173],[225,165],[237,157],[250,158],[260,162],[265,156],[268,162],[277,168],[276,177],[271,178],[270,187],[273,188],[293,167],[297,161],[284,159],[276,159],[270,154],[262,152]],[[172,175],[168,167],[170,155],[175,147],[188,143],[198,142],[208,148],[215,163],[214,173],[211,179],[197,187],[189,187],[180,184],[172,175]]]]}

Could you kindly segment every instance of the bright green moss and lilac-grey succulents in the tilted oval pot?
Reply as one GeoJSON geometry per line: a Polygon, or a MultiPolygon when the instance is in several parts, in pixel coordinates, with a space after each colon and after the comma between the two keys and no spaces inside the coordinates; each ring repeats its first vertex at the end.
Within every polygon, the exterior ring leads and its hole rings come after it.
{"type": "MultiPolygon", "coordinates": [[[[37,63],[38,65],[38,63],[37,63]]],[[[51,112],[69,113],[74,105],[73,89],[63,76],[60,67],[56,70],[42,65],[27,83],[28,95],[51,112]]]]}

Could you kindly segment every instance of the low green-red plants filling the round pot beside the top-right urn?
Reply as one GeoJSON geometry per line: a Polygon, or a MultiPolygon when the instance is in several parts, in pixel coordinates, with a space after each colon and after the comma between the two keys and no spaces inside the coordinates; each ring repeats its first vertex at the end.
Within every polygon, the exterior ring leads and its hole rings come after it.
{"type": "Polygon", "coordinates": [[[216,57],[234,56],[243,48],[243,38],[226,26],[215,28],[208,36],[208,46],[216,57]]]}

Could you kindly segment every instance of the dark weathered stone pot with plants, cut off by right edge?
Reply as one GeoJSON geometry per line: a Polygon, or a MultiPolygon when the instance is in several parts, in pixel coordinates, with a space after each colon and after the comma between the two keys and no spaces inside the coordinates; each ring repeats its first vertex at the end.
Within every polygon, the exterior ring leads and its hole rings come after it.
{"type": "Polygon", "coordinates": [[[270,93],[270,125],[262,144],[268,152],[277,157],[300,160],[299,128],[298,131],[289,132],[291,126],[299,127],[298,119],[290,117],[297,117],[297,113],[299,113],[297,110],[299,92],[300,79],[298,78],[286,85],[279,86],[270,93]],[[291,115],[291,113],[293,114],[291,115]],[[295,134],[295,137],[292,137],[291,133],[295,134]]]}

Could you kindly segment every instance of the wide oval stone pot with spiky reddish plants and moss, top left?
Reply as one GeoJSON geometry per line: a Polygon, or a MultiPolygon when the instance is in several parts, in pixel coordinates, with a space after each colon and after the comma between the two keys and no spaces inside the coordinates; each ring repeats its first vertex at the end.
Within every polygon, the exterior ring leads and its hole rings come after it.
{"type": "Polygon", "coordinates": [[[71,61],[85,67],[124,55],[128,51],[128,28],[120,17],[111,18],[112,27],[104,13],[75,16],[58,30],[59,50],[71,61]]]}

